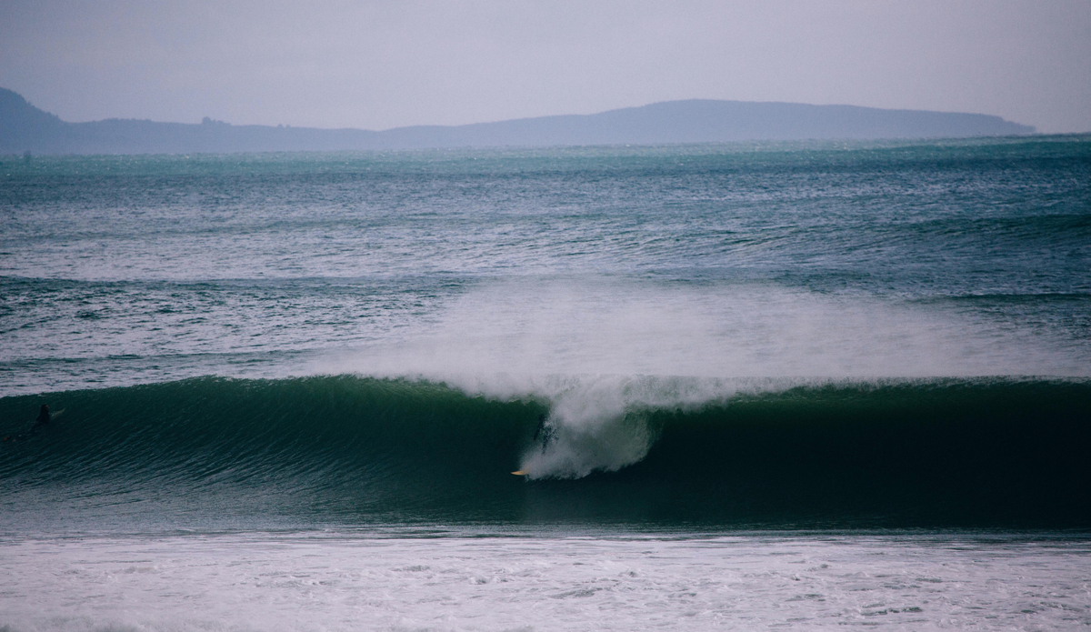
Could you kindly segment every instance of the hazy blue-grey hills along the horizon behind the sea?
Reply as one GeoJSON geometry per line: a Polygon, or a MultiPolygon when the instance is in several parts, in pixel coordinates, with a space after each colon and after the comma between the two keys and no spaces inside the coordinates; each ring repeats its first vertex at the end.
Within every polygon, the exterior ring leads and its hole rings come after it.
{"type": "Polygon", "coordinates": [[[710,143],[750,140],[924,139],[1034,133],[999,117],[855,106],[692,99],[597,115],[382,132],[107,119],[62,121],[0,88],[0,154],[181,154],[428,147],[710,143]]]}

